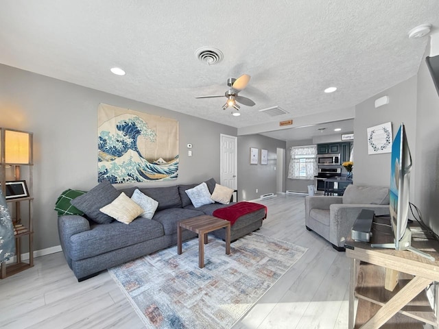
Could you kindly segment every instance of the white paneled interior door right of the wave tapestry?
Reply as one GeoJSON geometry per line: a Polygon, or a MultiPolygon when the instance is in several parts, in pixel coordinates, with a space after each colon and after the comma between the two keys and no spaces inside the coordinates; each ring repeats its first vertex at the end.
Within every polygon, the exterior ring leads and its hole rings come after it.
{"type": "Polygon", "coordinates": [[[237,189],[237,136],[229,136],[221,134],[221,155],[219,160],[221,161],[221,173],[220,180],[221,185],[229,188],[237,189]]]}

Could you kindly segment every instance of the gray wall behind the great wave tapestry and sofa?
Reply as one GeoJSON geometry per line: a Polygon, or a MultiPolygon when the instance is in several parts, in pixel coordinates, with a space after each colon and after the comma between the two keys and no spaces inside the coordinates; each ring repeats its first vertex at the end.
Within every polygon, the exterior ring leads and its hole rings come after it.
{"type": "Polygon", "coordinates": [[[234,127],[0,65],[0,126],[34,132],[36,250],[59,245],[53,210],[58,195],[67,188],[90,189],[97,184],[99,103],[178,120],[178,180],[144,183],[147,186],[201,182],[211,177],[219,182],[219,134],[237,135],[234,127]],[[191,158],[187,143],[193,144],[191,158]]]}

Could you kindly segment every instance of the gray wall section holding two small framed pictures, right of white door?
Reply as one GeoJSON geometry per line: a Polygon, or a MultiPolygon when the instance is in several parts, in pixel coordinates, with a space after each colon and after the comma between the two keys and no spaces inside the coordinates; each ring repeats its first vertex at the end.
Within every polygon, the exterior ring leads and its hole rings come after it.
{"type": "Polygon", "coordinates": [[[238,200],[252,200],[276,193],[277,148],[286,143],[261,135],[238,136],[238,200]],[[250,164],[250,147],[259,149],[258,164],[250,164]],[[268,164],[261,164],[261,149],[268,150],[268,164]],[[256,192],[258,189],[258,192],[256,192]]]}

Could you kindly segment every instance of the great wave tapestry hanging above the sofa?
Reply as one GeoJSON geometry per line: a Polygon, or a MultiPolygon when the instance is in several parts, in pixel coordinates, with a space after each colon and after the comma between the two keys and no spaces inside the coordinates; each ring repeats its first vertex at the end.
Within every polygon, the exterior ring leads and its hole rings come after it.
{"type": "Polygon", "coordinates": [[[156,182],[178,177],[178,121],[99,104],[98,181],[156,182]]]}

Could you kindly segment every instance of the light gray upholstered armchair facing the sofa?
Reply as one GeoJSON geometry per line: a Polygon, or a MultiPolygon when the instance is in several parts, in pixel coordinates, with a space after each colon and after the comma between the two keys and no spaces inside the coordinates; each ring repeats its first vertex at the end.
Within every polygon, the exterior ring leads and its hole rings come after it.
{"type": "Polygon", "coordinates": [[[341,252],[361,209],[389,215],[389,188],[349,185],[342,197],[305,197],[305,226],[341,252]]]}

